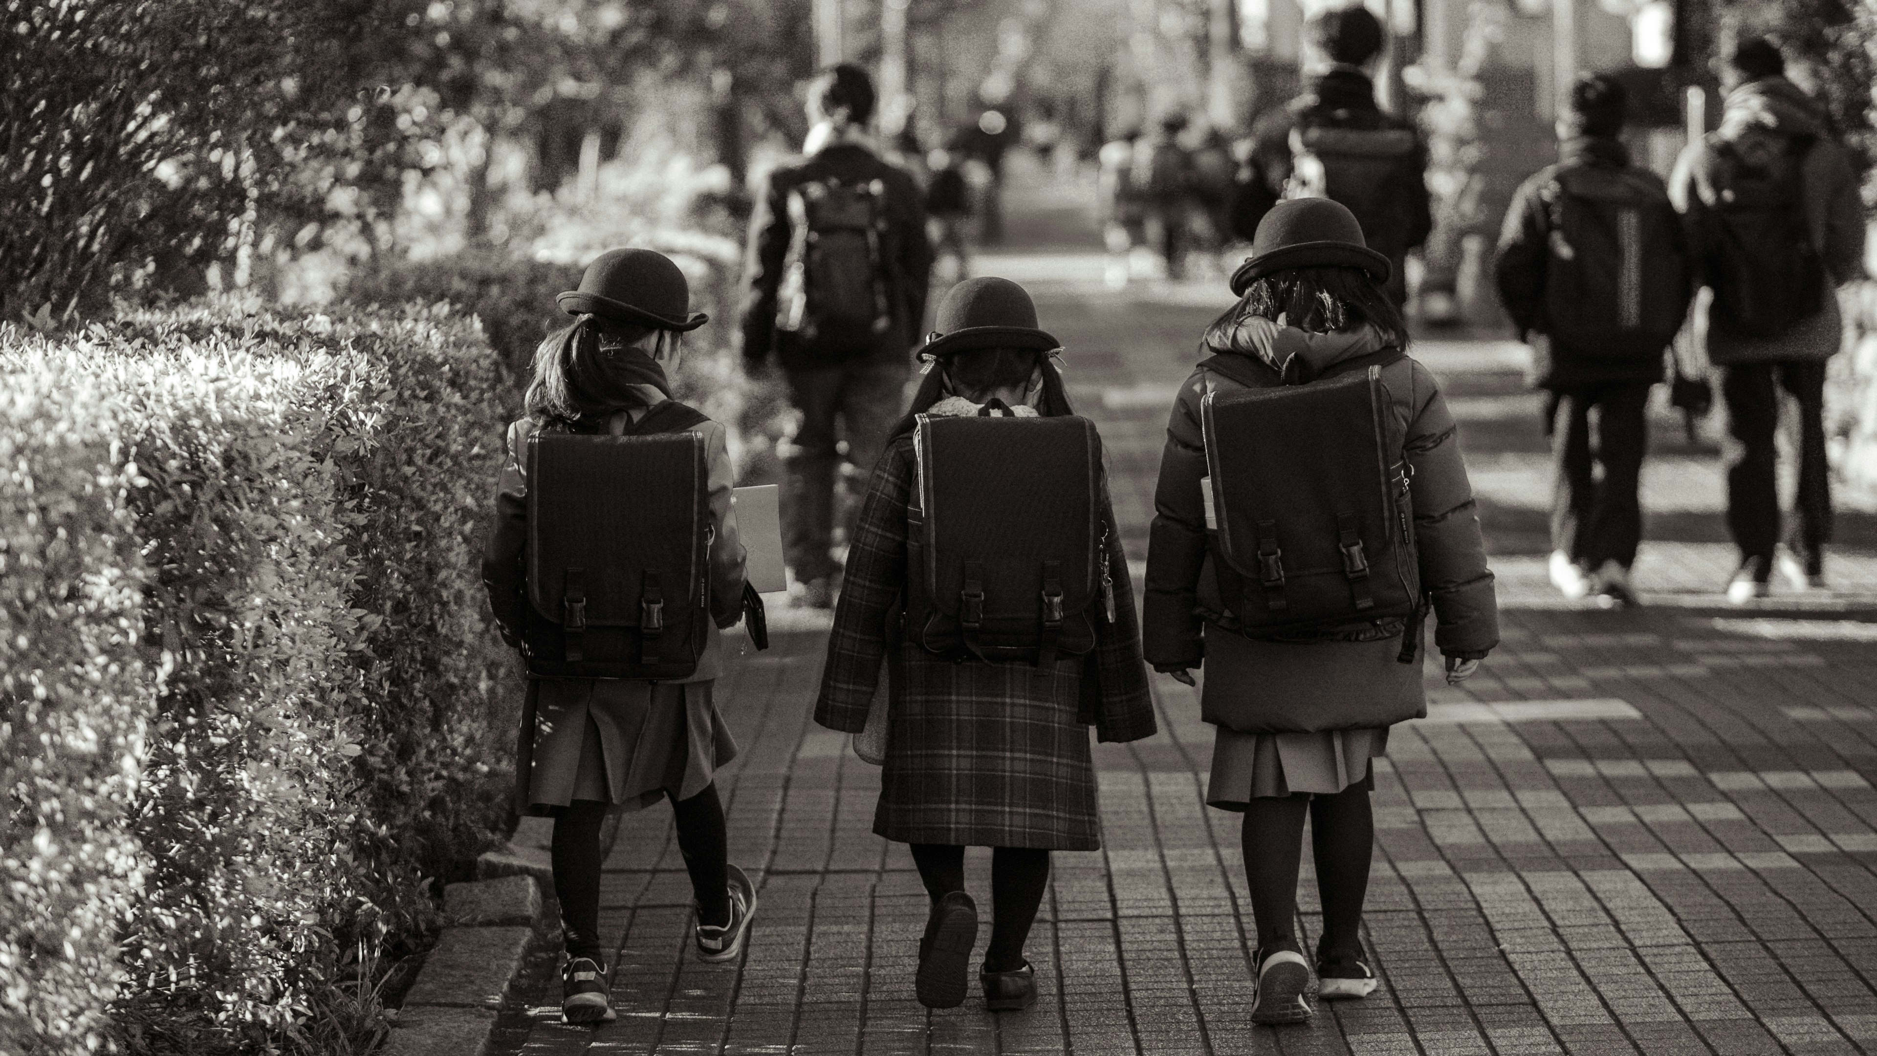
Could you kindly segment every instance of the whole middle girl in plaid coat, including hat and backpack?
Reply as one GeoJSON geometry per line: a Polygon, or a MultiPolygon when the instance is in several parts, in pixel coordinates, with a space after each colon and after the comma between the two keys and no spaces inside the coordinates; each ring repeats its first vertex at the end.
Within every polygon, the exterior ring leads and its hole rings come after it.
{"type": "Polygon", "coordinates": [[[847,559],[815,720],[862,733],[888,668],[873,831],[910,844],[931,897],[918,1000],[965,1000],[978,908],[965,848],[989,846],[987,1005],[1023,1009],[1049,852],[1102,846],[1085,726],[1154,732],[1128,563],[1100,441],[1070,415],[1030,296],[967,279],[880,456],[847,559]]]}

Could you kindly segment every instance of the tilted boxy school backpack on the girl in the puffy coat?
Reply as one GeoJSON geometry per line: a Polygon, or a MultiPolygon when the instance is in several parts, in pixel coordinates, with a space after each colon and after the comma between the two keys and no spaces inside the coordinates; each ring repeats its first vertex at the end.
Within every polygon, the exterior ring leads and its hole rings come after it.
{"type": "Polygon", "coordinates": [[[1220,355],[1201,366],[1244,390],[1199,405],[1216,529],[1213,570],[1233,628],[1303,638],[1406,619],[1419,645],[1421,570],[1410,469],[1393,426],[1381,349],[1286,385],[1269,366],[1220,355]]]}

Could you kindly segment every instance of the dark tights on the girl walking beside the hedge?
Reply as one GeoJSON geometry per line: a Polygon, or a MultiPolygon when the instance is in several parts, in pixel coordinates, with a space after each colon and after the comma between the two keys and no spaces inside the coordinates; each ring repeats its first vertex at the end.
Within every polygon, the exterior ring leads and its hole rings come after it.
{"type": "MultiPolygon", "coordinates": [[[[666,792],[670,795],[670,792],[666,792]]],[[[561,902],[561,928],[567,957],[604,960],[599,938],[599,829],[606,803],[574,799],[554,814],[554,897],[561,902]]],[[[725,872],[723,803],[717,786],[706,786],[691,799],[672,799],[678,822],[678,852],[691,874],[691,893],[698,902],[698,921],[730,923],[730,882],[725,872]]]]}

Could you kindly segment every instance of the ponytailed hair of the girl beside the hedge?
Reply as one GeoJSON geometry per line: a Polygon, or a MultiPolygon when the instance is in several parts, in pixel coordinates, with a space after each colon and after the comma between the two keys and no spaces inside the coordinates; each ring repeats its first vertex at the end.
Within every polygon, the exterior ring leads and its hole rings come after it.
{"type": "Polygon", "coordinates": [[[612,323],[582,315],[548,334],[535,349],[535,373],[522,407],[541,424],[576,426],[627,407],[644,407],[636,385],[651,385],[670,396],[664,368],[653,358],[678,349],[679,336],[657,330],[653,355],[634,347],[649,326],[612,323]]]}

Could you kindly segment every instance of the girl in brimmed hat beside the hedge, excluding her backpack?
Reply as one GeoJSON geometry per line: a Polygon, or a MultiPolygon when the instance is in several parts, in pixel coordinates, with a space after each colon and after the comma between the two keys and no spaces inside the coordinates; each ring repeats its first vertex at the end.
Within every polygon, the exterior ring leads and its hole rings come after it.
{"type": "MultiPolygon", "coordinates": [[[[678,264],[651,249],[614,249],[588,266],[578,291],[559,294],[576,315],[535,353],[527,416],[509,426],[496,491],[496,523],[482,555],[482,585],[503,638],[520,647],[527,606],[527,441],[542,430],[619,435],[670,409],[666,368],[681,334],[708,317],[689,313],[678,264]]],[[[743,544],[730,506],[734,471],[719,422],[704,437],[710,488],[710,613],[696,671],[672,681],[529,679],[522,707],[514,805],[554,818],[554,895],[561,904],[567,962],[565,1022],[612,1020],[610,968],[599,934],[601,823],[610,810],[672,801],[678,846],[696,897],[694,940],[704,960],[743,951],[756,889],[728,863],[723,803],[713,771],[736,758],[736,739],[711,698],[723,673],[723,628],[743,604],[743,544]]],[[[685,499],[689,501],[689,499],[685,499]]]]}

